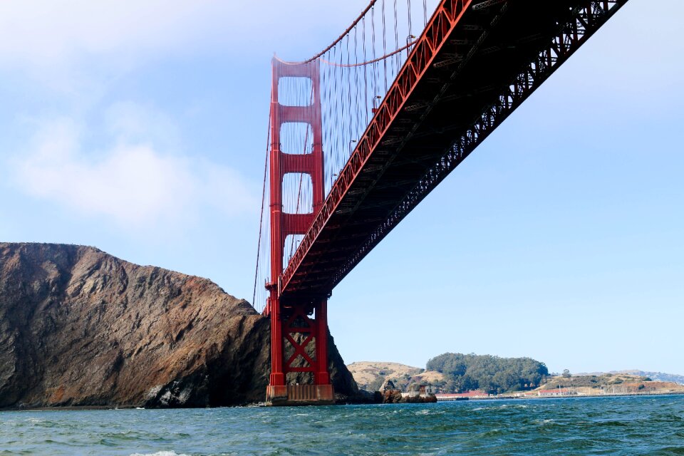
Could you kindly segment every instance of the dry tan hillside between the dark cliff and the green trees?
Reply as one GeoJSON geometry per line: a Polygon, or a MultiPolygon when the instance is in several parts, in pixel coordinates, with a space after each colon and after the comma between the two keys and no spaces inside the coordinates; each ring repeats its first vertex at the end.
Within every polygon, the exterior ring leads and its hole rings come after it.
{"type": "Polygon", "coordinates": [[[411,383],[441,383],[444,375],[439,372],[425,371],[425,369],[406,366],[400,363],[385,363],[383,361],[358,361],[347,366],[358,388],[367,391],[377,391],[385,382],[392,380],[397,388],[407,390],[411,383]]]}

